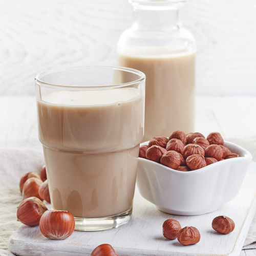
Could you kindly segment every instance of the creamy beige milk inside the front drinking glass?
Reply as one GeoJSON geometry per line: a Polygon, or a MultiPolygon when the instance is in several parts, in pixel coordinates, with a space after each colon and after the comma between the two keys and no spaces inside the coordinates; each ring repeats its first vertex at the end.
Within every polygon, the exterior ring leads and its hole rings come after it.
{"type": "Polygon", "coordinates": [[[143,104],[135,88],[56,90],[37,99],[54,209],[97,218],[132,207],[143,104]]]}

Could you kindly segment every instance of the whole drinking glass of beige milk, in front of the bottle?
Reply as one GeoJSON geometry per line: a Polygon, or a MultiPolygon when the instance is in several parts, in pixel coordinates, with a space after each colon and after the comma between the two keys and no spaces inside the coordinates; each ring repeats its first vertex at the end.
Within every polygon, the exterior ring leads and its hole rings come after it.
{"type": "Polygon", "coordinates": [[[39,140],[52,208],[70,211],[76,230],[131,219],[145,75],[118,67],[73,67],[35,77],[39,140]]]}

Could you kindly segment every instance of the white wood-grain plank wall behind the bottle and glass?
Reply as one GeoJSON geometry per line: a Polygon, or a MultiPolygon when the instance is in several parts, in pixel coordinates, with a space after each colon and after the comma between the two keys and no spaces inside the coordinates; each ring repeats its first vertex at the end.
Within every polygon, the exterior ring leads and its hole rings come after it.
{"type": "MultiPolygon", "coordinates": [[[[198,42],[199,95],[256,95],[255,0],[188,0],[185,28],[198,42]]],[[[116,65],[132,24],[126,0],[0,1],[0,95],[34,95],[46,69],[116,65]]]]}

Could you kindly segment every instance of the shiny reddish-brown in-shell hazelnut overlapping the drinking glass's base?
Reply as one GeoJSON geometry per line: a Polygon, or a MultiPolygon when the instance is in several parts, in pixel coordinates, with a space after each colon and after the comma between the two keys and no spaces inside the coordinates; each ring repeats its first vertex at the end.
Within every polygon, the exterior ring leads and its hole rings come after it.
{"type": "Polygon", "coordinates": [[[69,211],[47,210],[40,219],[39,228],[46,238],[62,240],[74,232],[75,219],[69,211]]]}

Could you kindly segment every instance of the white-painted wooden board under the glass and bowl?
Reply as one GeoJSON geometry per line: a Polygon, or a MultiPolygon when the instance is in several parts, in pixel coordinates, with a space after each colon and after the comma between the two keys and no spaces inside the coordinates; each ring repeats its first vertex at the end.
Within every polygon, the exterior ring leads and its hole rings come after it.
{"type": "Polygon", "coordinates": [[[112,230],[97,232],[75,231],[66,240],[46,239],[39,227],[23,225],[9,239],[9,249],[17,255],[90,255],[92,250],[104,243],[111,244],[119,256],[238,256],[256,211],[256,163],[252,162],[245,176],[239,195],[219,210],[201,216],[168,215],[143,199],[136,190],[132,220],[112,230]],[[212,220],[220,215],[233,219],[233,232],[223,235],[211,228],[212,220]],[[197,227],[201,241],[196,245],[183,246],[177,239],[162,236],[162,223],[176,219],[181,226],[197,227]]]}

